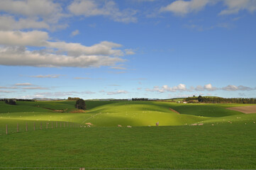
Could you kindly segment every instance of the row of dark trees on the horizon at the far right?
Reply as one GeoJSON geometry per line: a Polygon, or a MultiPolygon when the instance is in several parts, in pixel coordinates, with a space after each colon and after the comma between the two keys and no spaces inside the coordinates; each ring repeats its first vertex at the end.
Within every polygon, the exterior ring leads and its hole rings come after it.
{"type": "Polygon", "coordinates": [[[188,97],[184,101],[195,103],[256,103],[256,98],[188,97]]]}

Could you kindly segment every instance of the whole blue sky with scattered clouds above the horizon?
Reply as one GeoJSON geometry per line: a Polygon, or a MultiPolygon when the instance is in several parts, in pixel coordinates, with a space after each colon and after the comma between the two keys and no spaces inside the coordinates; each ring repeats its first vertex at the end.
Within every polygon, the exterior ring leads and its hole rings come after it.
{"type": "Polygon", "coordinates": [[[255,30],[255,0],[0,0],[0,98],[255,98],[255,30]]]}

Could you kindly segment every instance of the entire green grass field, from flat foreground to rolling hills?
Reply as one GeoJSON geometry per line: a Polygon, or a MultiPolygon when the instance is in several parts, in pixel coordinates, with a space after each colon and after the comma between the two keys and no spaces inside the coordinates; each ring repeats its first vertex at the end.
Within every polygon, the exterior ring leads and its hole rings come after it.
{"type": "Polygon", "coordinates": [[[256,114],[226,109],[251,105],[86,101],[79,111],[74,103],[0,102],[0,166],[256,169],[256,114]]]}

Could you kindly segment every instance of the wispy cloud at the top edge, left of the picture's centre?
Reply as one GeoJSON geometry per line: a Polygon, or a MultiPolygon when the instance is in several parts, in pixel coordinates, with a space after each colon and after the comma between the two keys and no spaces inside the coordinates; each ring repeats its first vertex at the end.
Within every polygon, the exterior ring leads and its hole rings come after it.
{"type": "Polygon", "coordinates": [[[120,11],[114,1],[105,1],[104,4],[99,4],[99,1],[75,0],[68,8],[76,16],[108,16],[117,22],[137,22],[137,18],[134,16],[135,11],[128,9],[120,11]]]}

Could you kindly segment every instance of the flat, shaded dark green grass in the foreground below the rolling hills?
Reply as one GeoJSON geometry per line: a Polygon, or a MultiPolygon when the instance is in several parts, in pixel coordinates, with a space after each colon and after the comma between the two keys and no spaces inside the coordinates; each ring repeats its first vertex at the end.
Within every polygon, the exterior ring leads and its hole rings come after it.
{"type": "Polygon", "coordinates": [[[62,128],[1,135],[1,167],[256,169],[256,125],[62,128]]]}

